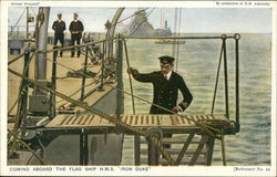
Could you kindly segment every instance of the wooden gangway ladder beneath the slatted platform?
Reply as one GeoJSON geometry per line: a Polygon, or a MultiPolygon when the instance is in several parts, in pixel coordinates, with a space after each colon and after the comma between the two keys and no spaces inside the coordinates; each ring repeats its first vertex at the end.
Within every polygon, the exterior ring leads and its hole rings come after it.
{"type": "MultiPolygon", "coordinates": [[[[215,138],[194,133],[178,138],[163,138],[163,145],[171,145],[166,150],[176,159],[176,165],[212,165],[215,138]]],[[[135,165],[167,165],[158,150],[145,139],[140,139],[135,147],[135,165]]]]}

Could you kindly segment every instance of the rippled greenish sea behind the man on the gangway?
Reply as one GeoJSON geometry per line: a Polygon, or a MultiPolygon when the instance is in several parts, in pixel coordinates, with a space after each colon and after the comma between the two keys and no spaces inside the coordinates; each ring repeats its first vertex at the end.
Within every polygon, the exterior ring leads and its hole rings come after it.
{"type": "MultiPolygon", "coordinates": [[[[222,34],[184,34],[195,37],[220,37],[222,34]]],[[[227,34],[234,35],[234,34],[227,34]]],[[[157,58],[173,55],[173,44],[155,44],[157,40],[127,40],[129,60],[141,73],[160,70],[157,58]]],[[[228,98],[230,119],[235,121],[235,40],[227,39],[228,98]]],[[[175,50],[176,50],[175,45],[175,50]]],[[[186,40],[178,45],[174,71],[181,74],[194,100],[183,114],[211,114],[216,73],[222,48],[220,39],[186,40]]],[[[130,90],[126,60],[124,59],[124,88],[130,90]]],[[[240,33],[239,40],[239,122],[236,135],[225,136],[228,166],[270,165],[271,138],[271,34],[240,33]]],[[[132,80],[134,94],[152,102],[150,83],[132,80]]],[[[125,95],[125,114],[132,114],[131,96],[125,95]]],[[[178,95],[178,102],[182,94],[178,95]]],[[[136,114],[147,114],[150,104],[135,98],[136,114]]],[[[214,114],[225,114],[223,62],[216,94],[214,114]]],[[[176,135],[185,140],[183,135],[176,135]]],[[[125,135],[123,165],[134,165],[133,136],[125,135]]],[[[212,165],[222,166],[222,146],[215,140],[212,165]]]]}

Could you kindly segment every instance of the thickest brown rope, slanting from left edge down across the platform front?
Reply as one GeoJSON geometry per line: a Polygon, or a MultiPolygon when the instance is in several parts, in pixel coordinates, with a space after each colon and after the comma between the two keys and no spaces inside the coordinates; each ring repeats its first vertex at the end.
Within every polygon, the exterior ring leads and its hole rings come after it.
{"type": "MultiPolygon", "coordinates": [[[[42,88],[42,90],[44,90],[44,91],[47,91],[47,92],[50,92],[50,93],[52,93],[53,95],[57,95],[57,96],[59,96],[59,97],[61,97],[61,98],[63,98],[63,100],[66,100],[68,102],[71,102],[72,104],[75,104],[75,105],[78,105],[78,106],[84,108],[84,110],[88,111],[88,112],[91,112],[91,113],[93,113],[93,114],[95,114],[95,115],[99,115],[99,116],[101,116],[101,117],[103,117],[103,118],[105,118],[105,119],[107,119],[107,121],[114,123],[115,125],[120,126],[120,127],[123,128],[123,129],[130,131],[130,132],[132,132],[132,133],[134,133],[134,134],[138,134],[138,135],[142,135],[142,136],[146,136],[146,133],[145,133],[143,129],[134,128],[134,127],[132,127],[131,125],[129,125],[129,124],[126,124],[126,123],[123,123],[123,122],[121,122],[120,119],[114,118],[113,116],[110,116],[110,115],[107,115],[107,114],[105,114],[105,113],[103,113],[103,112],[101,112],[101,111],[99,111],[99,110],[96,110],[96,108],[90,107],[90,106],[85,105],[85,104],[82,103],[82,102],[78,102],[78,101],[70,98],[69,96],[66,96],[66,95],[64,95],[64,94],[62,94],[62,93],[60,93],[60,92],[53,91],[53,90],[51,90],[51,88],[49,88],[49,87],[45,87],[45,86],[39,84],[37,81],[31,80],[31,79],[28,79],[28,77],[25,77],[24,75],[22,75],[22,74],[16,72],[16,71],[13,71],[13,70],[11,70],[11,69],[8,69],[8,70],[9,70],[10,73],[12,73],[12,74],[14,74],[14,75],[17,75],[17,76],[19,76],[19,77],[21,77],[21,79],[23,79],[23,80],[30,82],[30,83],[32,83],[33,85],[35,85],[35,86],[38,86],[38,87],[40,87],[40,88],[42,88]]],[[[160,142],[160,139],[158,139],[157,137],[151,136],[151,137],[150,137],[150,140],[151,140],[156,147],[158,147],[160,153],[161,153],[162,155],[164,155],[165,159],[167,160],[167,163],[168,163],[170,165],[174,165],[174,164],[175,164],[175,160],[174,160],[174,159],[171,157],[171,155],[164,149],[164,147],[161,145],[161,142],[160,142]]]]}

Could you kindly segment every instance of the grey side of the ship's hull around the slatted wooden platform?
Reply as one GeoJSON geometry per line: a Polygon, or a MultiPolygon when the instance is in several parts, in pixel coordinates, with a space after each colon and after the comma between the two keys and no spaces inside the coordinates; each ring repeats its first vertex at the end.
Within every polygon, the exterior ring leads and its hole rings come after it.
{"type": "MultiPolygon", "coordinates": [[[[116,110],[116,91],[111,90],[93,105],[107,114],[116,110]]],[[[90,114],[90,113],[84,113],[90,114]]],[[[122,158],[122,134],[96,134],[88,136],[88,165],[120,165],[122,158]]],[[[22,152],[21,152],[22,154],[22,152]]],[[[48,165],[80,165],[80,135],[60,135],[51,143],[37,150],[48,165]]],[[[10,159],[9,165],[40,165],[30,153],[19,159],[10,159]]]]}

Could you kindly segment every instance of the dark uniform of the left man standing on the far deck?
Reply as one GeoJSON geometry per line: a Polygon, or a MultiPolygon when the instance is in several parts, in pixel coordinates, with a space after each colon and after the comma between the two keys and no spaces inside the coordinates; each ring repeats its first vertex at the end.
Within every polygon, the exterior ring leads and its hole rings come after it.
{"type": "MultiPolygon", "coordinates": [[[[64,33],[63,31],[65,30],[65,22],[62,20],[57,20],[53,22],[52,29],[54,30],[54,45],[57,45],[58,41],[60,43],[64,44],[64,33]]],[[[62,51],[60,52],[60,55],[62,56],[62,51]]]]}

